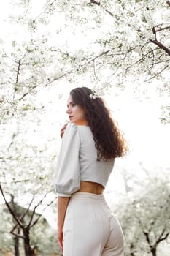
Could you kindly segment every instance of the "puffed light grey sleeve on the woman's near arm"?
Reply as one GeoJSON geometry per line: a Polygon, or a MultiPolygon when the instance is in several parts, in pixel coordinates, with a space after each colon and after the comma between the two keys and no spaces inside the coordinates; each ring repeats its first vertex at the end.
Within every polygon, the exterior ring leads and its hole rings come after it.
{"type": "Polygon", "coordinates": [[[71,197],[80,189],[80,134],[76,124],[64,131],[55,170],[55,191],[59,197],[71,197]]]}

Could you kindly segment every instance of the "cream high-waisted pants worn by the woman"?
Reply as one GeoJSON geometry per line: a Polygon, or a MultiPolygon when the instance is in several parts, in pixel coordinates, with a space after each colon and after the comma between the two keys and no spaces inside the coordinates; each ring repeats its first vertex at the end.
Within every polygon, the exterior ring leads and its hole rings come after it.
{"type": "Polygon", "coordinates": [[[63,226],[63,256],[123,256],[123,232],[104,195],[74,193],[63,226]]]}

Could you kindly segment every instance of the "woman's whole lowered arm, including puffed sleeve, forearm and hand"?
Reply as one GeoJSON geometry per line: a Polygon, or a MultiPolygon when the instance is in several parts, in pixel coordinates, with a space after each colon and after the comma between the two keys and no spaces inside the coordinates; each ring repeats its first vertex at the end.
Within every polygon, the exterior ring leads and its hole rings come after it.
{"type": "Polygon", "coordinates": [[[75,124],[68,124],[61,142],[55,170],[58,194],[58,244],[63,249],[63,223],[69,198],[80,189],[80,134],[75,124]]]}

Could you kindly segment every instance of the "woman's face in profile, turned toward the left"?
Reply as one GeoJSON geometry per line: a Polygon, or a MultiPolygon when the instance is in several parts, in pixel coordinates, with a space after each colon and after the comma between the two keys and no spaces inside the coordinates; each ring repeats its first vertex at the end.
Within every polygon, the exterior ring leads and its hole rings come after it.
{"type": "Polygon", "coordinates": [[[85,119],[85,111],[80,105],[76,105],[72,99],[72,95],[69,95],[67,100],[67,110],[66,113],[69,115],[69,120],[71,123],[87,125],[87,121],[85,119]]]}

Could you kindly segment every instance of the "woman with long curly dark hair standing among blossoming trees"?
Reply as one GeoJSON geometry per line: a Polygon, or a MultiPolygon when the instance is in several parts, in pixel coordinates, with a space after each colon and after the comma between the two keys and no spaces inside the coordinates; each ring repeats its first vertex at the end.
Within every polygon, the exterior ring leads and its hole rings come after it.
{"type": "Polygon", "coordinates": [[[103,192],[125,140],[87,87],[70,92],[66,113],[55,173],[58,244],[63,256],[123,256],[123,233],[103,192]]]}

